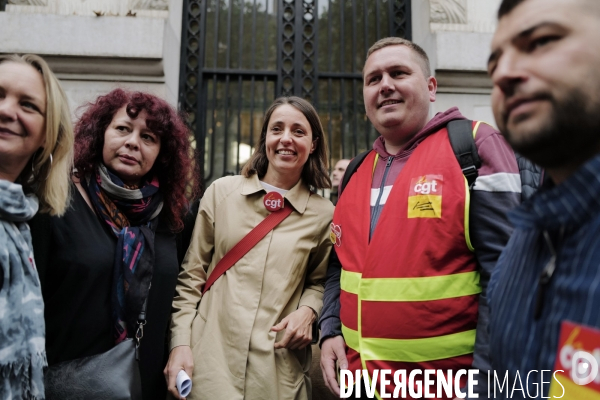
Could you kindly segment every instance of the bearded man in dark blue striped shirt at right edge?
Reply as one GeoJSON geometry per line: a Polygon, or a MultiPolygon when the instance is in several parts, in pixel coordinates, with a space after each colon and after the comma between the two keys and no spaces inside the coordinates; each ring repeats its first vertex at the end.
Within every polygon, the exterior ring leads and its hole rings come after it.
{"type": "MultiPolygon", "coordinates": [[[[496,122],[552,183],[510,215],[515,231],[488,288],[487,395],[547,398],[563,322],[600,328],[600,1],[504,0],[498,18],[496,122]]],[[[557,396],[590,398],[575,390],[557,396]]]]}

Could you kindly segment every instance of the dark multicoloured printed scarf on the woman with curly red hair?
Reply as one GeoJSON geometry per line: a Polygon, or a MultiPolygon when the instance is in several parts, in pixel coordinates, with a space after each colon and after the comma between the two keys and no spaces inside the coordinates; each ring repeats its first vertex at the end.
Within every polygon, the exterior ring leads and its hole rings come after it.
{"type": "Polygon", "coordinates": [[[101,221],[117,238],[111,306],[115,344],[135,333],[152,280],[154,232],[162,210],[158,179],[130,189],[101,165],[81,181],[101,221]]]}

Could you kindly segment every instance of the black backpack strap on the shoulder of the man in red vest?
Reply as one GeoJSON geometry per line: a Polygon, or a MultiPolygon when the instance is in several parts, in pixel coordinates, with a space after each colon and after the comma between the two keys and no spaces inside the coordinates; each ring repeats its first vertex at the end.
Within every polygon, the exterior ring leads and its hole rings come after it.
{"type": "Polygon", "coordinates": [[[446,128],[454,155],[471,188],[479,175],[477,170],[481,167],[481,159],[473,138],[473,121],[468,119],[450,121],[446,128]]]}

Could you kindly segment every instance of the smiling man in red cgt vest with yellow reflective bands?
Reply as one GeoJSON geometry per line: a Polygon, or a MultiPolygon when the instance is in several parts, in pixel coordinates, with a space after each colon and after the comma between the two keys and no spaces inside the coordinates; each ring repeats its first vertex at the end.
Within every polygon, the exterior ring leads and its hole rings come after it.
{"type": "MultiPolygon", "coordinates": [[[[320,328],[330,390],[340,393],[337,361],[353,376],[368,371],[367,398],[371,382],[377,397],[382,388],[391,394],[399,370],[408,377],[489,368],[479,357],[488,346],[485,291],[521,185],[508,144],[473,121],[481,167],[469,190],[446,130],[465,117],[456,107],[429,117],[437,82],[418,45],[381,39],[368,51],[363,80],[366,113],[381,136],[337,203],[320,328]],[[388,384],[375,376],[382,370],[391,371],[388,384]]],[[[464,386],[465,376],[459,380],[464,386]]]]}

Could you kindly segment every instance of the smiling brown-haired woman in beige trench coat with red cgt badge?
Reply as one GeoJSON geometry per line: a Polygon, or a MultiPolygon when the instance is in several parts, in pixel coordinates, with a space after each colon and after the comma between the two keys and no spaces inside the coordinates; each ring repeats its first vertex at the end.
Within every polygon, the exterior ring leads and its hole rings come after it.
{"type": "Polygon", "coordinates": [[[333,205],[309,187],[330,185],[316,111],[298,97],[275,100],[242,175],[215,181],[200,203],[165,368],[177,398],[182,369],[192,377],[188,399],[310,398],[311,328],[322,306],[333,205]],[[202,297],[217,262],[269,214],[270,192],[292,213],[202,297]]]}

